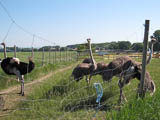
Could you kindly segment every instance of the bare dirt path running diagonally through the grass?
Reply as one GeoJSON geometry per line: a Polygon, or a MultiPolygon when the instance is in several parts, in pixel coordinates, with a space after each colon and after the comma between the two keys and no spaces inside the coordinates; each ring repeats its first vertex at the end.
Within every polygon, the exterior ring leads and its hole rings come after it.
{"type": "Polygon", "coordinates": [[[13,109],[15,109],[16,105],[22,99],[25,99],[32,92],[32,89],[34,88],[34,86],[37,86],[40,83],[43,83],[45,80],[47,80],[51,76],[55,75],[56,73],[66,71],[66,70],[68,70],[72,67],[73,67],[73,65],[69,66],[69,67],[59,69],[59,70],[56,70],[55,72],[51,72],[51,73],[47,74],[46,76],[41,77],[40,79],[37,79],[37,80],[34,80],[32,82],[26,83],[24,85],[25,96],[23,96],[23,97],[20,96],[19,94],[17,94],[20,91],[20,85],[10,87],[8,89],[4,89],[4,90],[0,91],[0,97],[3,98],[3,100],[5,101],[3,110],[0,111],[0,116],[3,116],[6,113],[8,113],[9,111],[12,111],[13,109]]]}

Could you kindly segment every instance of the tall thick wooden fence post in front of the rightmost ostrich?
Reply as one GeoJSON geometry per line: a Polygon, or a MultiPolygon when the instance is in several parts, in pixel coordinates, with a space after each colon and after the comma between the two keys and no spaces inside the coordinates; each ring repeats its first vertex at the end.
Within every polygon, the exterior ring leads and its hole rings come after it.
{"type": "Polygon", "coordinates": [[[148,44],[148,35],[149,35],[149,20],[145,21],[145,31],[144,31],[144,41],[143,41],[143,59],[142,59],[142,75],[140,82],[140,97],[145,97],[144,84],[145,84],[145,75],[146,75],[146,58],[147,58],[147,44],[148,44]]]}

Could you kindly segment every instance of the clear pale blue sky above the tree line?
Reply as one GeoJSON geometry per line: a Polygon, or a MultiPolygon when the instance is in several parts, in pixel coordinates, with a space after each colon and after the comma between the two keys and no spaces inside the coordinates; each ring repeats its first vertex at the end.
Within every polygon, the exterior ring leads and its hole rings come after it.
{"type": "Polygon", "coordinates": [[[0,0],[0,42],[7,46],[66,46],[111,41],[142,42],[160,29],[160,0],[0,0]],[[10,27],[11,26],[11,27],[10,27]],[[8,32],[7,31],[11,28],[8,32]],[[29,32],[29,33],[28,33],[29,32]],[[35,37],[33,38],[33,34],[35,37]],[[40,36],[44,39],[40,39],[40,36]]]}

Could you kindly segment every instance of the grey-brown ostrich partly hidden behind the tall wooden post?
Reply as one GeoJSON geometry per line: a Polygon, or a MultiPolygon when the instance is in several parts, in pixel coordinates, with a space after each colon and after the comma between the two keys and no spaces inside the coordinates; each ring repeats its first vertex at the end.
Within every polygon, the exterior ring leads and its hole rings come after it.
{"type": "MultiPolygon", "coordinates": [[[[155,42],[156,42],[155,39],[151,40],[151,51],[150,51],[150,56],[147,59],[147,64],[149,64],[151,61],[153,53],[153,45],[155,42]]],[[[128,56],[122,56],[110,62],[107,65],[107,67],[102,71],[101,75],[104,81],[110,81],[113,76],[120,77],[118,86],[120,88],[119,102],[121,103],[122,99],[127,101],[125,96],[123,95],[122,88],[124,87],[125,84],[128,84],[131,81],[131,79],[137,78],[138,80],[140,80],[141,73],[142,73],[141,63],[134,61],[128,56]]],[[[146,72],[144,88],[145,92],[150,91],[151,95],[154,94],[156,89],[154,81],[152,80],[149,72],[146,72]]]]}

